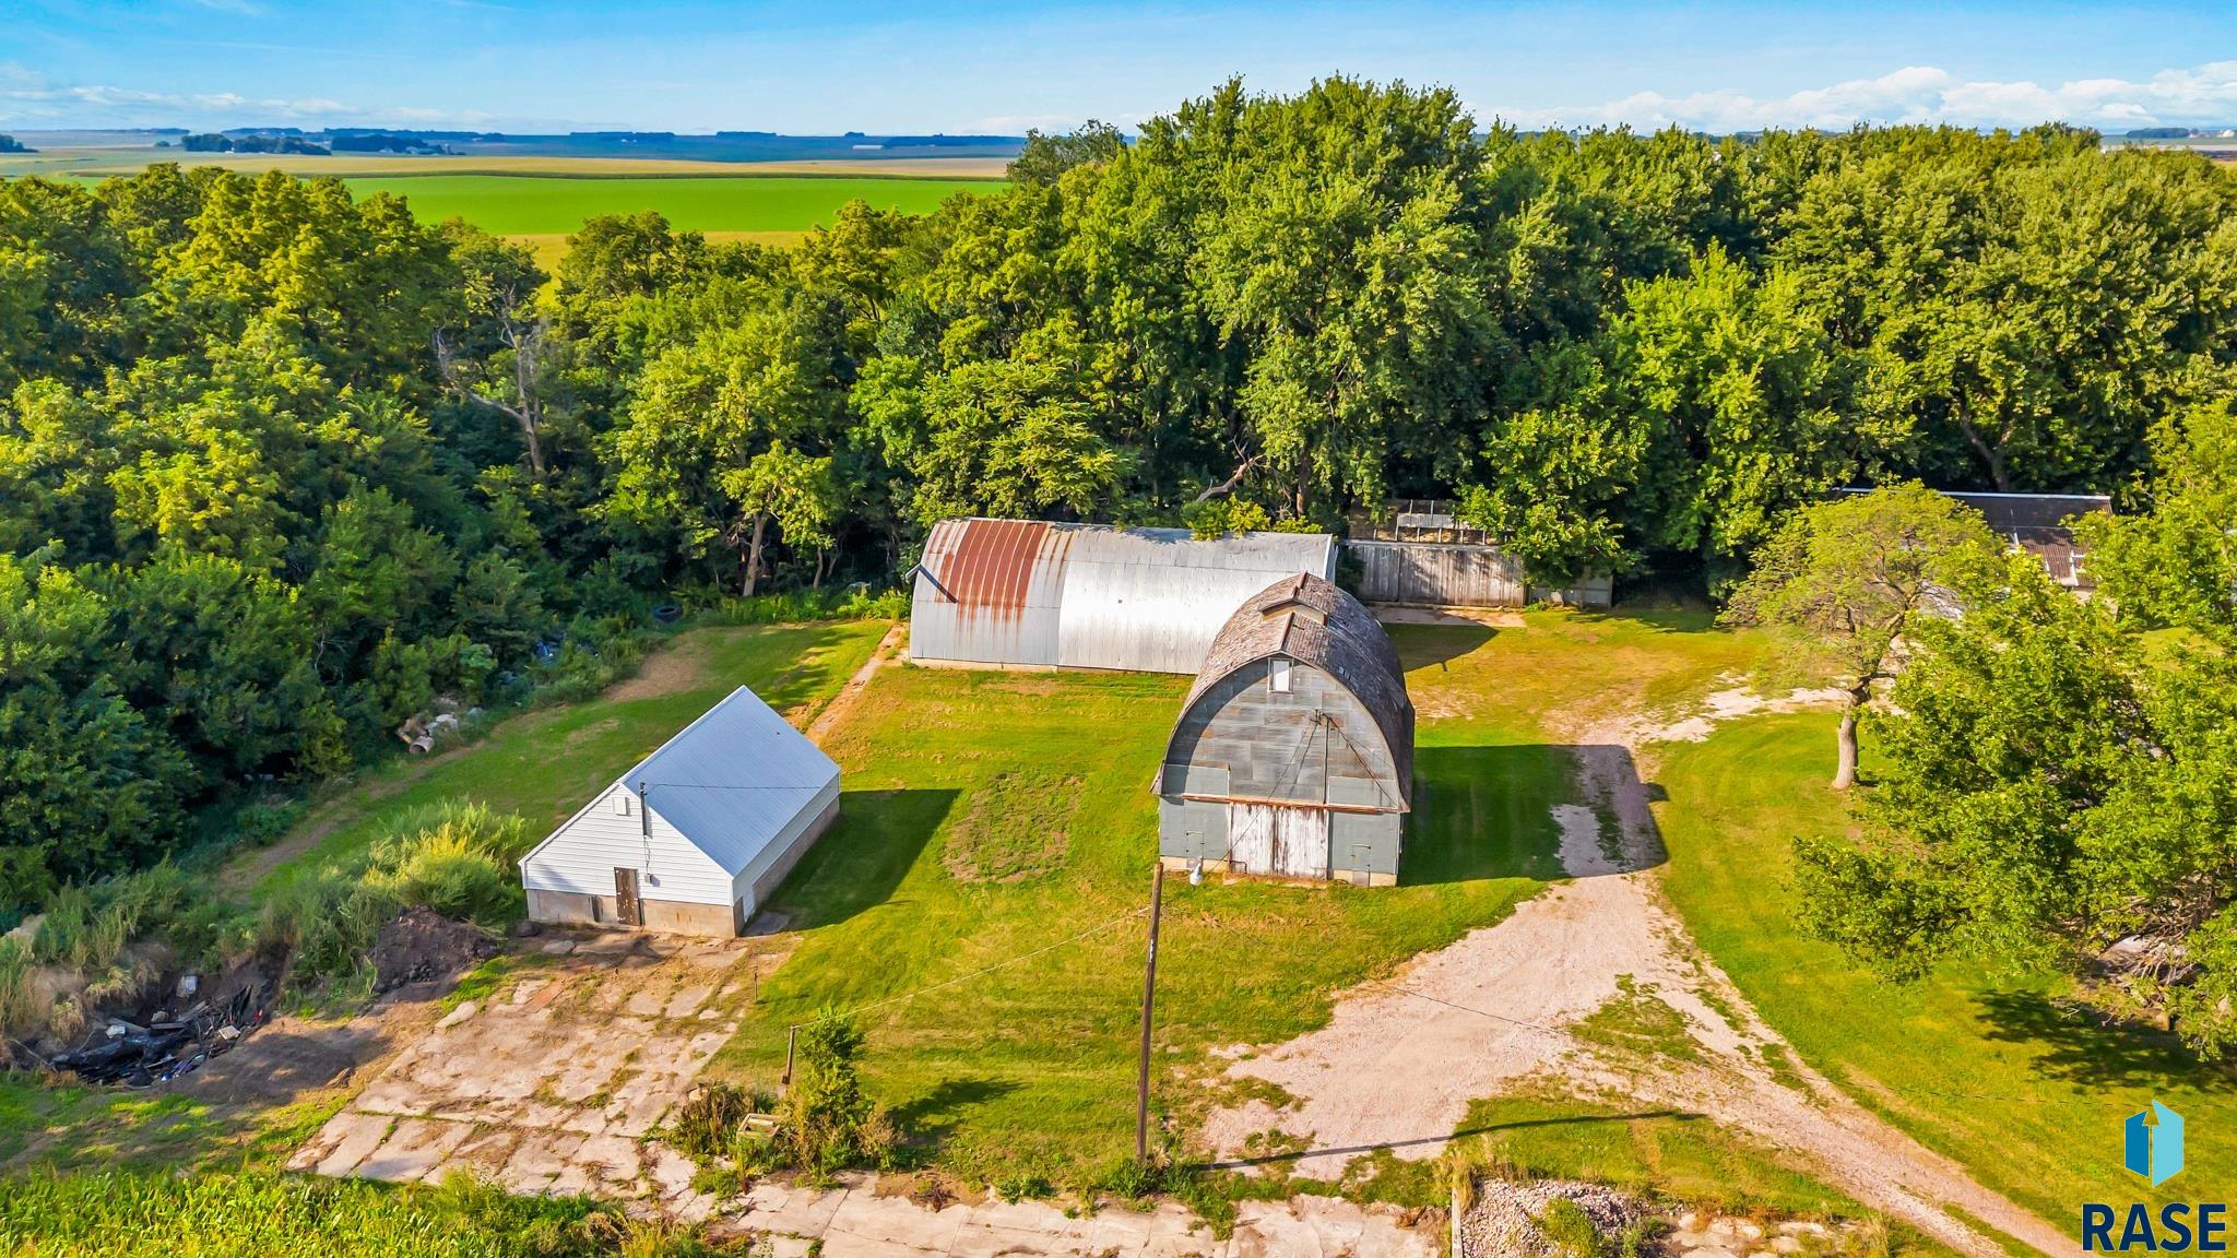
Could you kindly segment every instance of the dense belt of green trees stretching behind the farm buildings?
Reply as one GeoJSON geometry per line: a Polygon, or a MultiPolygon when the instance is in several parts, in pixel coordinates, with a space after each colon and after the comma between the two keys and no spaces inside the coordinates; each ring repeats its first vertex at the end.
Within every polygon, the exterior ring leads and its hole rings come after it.
{"type": "Polygon", "coordinates": [[[1526,137],[1347,78],[553,275],[338,181],[0,181],[0,911],[946,515],[1452,497],[1539,584],[1722,591],[1830,486],[2130,495],[2228,392],[2233,210],[2069,128],[1526,137]]]}

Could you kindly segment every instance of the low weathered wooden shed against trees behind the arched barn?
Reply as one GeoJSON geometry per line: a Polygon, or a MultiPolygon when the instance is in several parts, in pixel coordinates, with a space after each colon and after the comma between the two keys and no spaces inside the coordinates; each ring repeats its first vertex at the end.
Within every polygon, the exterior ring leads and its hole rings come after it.
{"type": "Polygon", "coordinates": [[[1568,589],[1532,586],[1523,562],[1454,515],[1443,499],[1398,499],[1382,519],[1353,515],[1344,555],[1358,564],[1358,593],[1367,602],[1407,607],[1528,607],[1564,602],[1608,607],[1615,586],[1595,575],[1568,589]]]}

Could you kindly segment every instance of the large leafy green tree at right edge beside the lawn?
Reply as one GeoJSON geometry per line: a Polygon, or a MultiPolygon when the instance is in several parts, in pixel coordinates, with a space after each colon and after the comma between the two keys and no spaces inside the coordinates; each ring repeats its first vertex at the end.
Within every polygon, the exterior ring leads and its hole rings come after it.
{"type": "MultiPolygon", "coordinates": [[[[1901,978],[2065,974],[2114,1016],[2237,1048],[2237,412],[2161,430],[2152,513],[2089,528],[2109,598],[2018,555],[1913,618],[1861,842],[1807,837],[1799,913],[1901,978]],[[2172,629],[2161,649],[2141,638],[2172,629]]],[[[1823,510],[1823,508],[1819,508],[1823,510]]],[[[1931,544],[1922,548],[1933,548],[1931,544]]],[[[1884,564],[1886,569],[1888,564],[1884,564]]]]}

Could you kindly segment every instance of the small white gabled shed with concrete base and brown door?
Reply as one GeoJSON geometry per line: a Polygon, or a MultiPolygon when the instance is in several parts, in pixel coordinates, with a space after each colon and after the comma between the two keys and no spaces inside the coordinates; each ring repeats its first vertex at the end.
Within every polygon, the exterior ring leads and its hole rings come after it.
{"type": "Polygon", "coordinates": [[[839,766],[747,687],[521,857],[528,918],[736,936],[839,815],[839,766]]]}

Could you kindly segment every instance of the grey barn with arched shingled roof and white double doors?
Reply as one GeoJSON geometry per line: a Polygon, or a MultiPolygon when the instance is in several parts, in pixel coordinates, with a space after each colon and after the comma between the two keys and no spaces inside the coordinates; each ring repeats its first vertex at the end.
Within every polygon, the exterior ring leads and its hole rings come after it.
{"type": "Polygon", "coordinates": [[[1219,629],[1154,790],[1168,869],[1398,882],[1414,703],[1382,627],[1320,575],[1255,593],[1219,629]]]}

